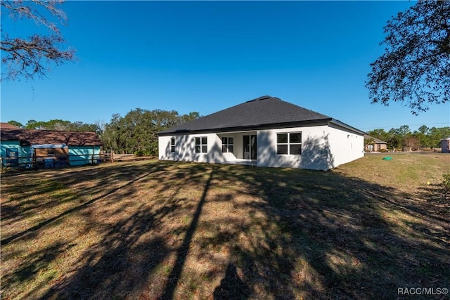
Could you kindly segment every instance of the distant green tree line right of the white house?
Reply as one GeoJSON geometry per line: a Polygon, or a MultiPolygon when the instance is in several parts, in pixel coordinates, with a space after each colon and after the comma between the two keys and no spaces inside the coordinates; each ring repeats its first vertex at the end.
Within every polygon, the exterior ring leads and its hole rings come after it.
{"type": "Polygon", "coordinates": [[[374,138],[379,138],[387,143],[388,149],[395,150],[419,150],[420,148],[438,148],[442,138],[450,136],[450,127],[420,126],[418,130],[411,131],[409,126],[403,125],[399,128],[374,129],[367,134],[374,138]]]}

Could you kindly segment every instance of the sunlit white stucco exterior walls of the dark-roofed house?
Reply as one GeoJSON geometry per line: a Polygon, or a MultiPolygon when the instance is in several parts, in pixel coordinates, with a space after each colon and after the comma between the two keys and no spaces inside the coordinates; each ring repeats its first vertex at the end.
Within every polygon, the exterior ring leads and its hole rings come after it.
{"type": "Polygon", "coordinates": [[[159,159],[187,162],[233,162],[243,159],[243,136],[257,135],[259,167],[291,167],[327,170],[364,156],[364,136],[337,126],[303,126],[236,133],[203,133],[160,136],[159,159]],[[302,155],[276,154],[276,133],[301,132],[302,155]],[[221,137],[233,137],[233,153],[221,152],[221,137]],[[175,138],[175,152],[170,139],[175,138]],[[195,153],[195,137],[207,137],[207,153],[195,153]]]}

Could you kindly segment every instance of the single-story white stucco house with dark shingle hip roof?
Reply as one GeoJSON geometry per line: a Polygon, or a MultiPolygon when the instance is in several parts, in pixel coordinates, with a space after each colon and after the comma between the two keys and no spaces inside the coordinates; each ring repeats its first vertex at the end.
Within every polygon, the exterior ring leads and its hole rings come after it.
{"type": "Polygon", "coordinates": [[[159,159],[326,170],[364,156],[364,132],[262,96],[158,133],[159,159]]]}

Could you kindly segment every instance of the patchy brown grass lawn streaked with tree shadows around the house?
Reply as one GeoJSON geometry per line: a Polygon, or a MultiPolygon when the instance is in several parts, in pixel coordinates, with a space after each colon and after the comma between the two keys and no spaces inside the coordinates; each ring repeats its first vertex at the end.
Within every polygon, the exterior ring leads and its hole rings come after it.
{"type": "Polygon", "coordinates": [[[392,299],[449,287],[449,156],[382,158],[333,171],[150,160],[2,176],[1,298],[392,299]]]}

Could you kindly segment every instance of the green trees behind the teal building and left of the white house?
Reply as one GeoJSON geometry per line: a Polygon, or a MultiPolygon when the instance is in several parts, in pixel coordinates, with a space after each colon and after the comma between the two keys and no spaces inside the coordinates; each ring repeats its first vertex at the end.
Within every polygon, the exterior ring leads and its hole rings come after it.
{"type": "Polygon", "coordinates": [[[94,131],[103,141],[104,150],[116,153],[134,153],[136,155],[157,155],[157,133],[172,126],[198,119],[198,112],[179,115],[175,110],[143,110],[136,108],[122,117],[114,114],[109,123],[70,122],[53,119],[48,122],[34,119],[23,125],[17,121],[9,124],[23,129],[63,130],[63,131],[94,131]]]}

